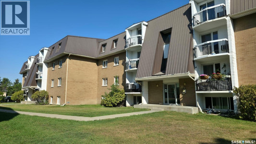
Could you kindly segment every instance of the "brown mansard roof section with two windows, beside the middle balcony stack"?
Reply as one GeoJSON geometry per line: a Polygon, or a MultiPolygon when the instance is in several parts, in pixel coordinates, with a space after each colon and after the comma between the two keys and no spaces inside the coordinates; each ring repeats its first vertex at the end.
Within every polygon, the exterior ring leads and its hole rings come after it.
{"type": "Polygon", "coordinates": [[[125,37],[126,37],[126,33],[123,32],[121,34],[118,34],[116,36],[112,36],[109,39],[106,39],[106,40],[103,40],[103,41],[99,42],[98,50],[97,50],[98,57],[103,57],[103,56],[109,55],[111,53],[115,53],[115,52],[124,50],[124,48],[125,48],[125,39],[126,39],[125,37]],[[118,39],[117,47],[112,48],[112,46],[113,46],[112,43],[113,43],[113,40],[115,40],[115,39],[118,39]],[[101,52],[101,48],[102,48],[103,44],[107,44],[105,52],[101,52]]]}

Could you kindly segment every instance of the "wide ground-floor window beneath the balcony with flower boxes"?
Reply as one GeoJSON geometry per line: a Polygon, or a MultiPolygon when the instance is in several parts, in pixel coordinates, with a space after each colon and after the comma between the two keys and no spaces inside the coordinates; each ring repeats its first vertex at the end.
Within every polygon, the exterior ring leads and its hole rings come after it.
{"type": "Polygon", "coordinates": [[[233,97],[205,97],[206,108],[234,110],[233,97]]]}

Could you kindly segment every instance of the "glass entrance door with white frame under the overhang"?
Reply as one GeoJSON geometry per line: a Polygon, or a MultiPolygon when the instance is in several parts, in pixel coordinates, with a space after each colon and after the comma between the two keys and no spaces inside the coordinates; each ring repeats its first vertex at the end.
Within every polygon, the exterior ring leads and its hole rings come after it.
{"type": "Polygon", "coordinates": [[[164,104],[180,104],[179,84],[164,84],[164,104]]]}

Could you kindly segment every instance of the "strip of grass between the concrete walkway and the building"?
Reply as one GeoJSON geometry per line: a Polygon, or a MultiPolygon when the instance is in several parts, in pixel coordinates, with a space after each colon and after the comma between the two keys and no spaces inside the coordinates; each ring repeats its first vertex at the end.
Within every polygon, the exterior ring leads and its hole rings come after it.
{"type": "Polygon", "coordinates": [[[0,105],[2,109],[27,111],[27,112],[39,112],[49,114],[60,114],[70,116],[83,116],[83,117],[97,117],[121,113],[130,113],[136,111],[146,111],[149,109],[139,109],[133,107],[122,107],[122,108],[106,108],[101,105],[79,105],[79,106],[58,106],[58,105],[0,105]]]}

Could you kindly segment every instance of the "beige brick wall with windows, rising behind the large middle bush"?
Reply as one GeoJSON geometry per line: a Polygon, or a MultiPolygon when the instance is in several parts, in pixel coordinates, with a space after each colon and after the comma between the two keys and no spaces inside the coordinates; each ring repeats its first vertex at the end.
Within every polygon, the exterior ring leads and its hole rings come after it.
{"type": "Polygon", "coordinates": [[[108,88],[114,84],[114,76],[119,76],[120,88],[125,86],[125,52],[98,60],[98,96],[97,103],[100,103],[101,96],[109,92],[108,88]],[[114,58],[119,57],[119,65],[114,66],[114,58]],[[108,60],[108,68],[102,68],[102,61],[108,60]],[[108,78],[108,86],[102,86],[102,78],[108,78]]]}

